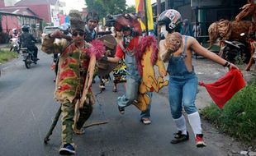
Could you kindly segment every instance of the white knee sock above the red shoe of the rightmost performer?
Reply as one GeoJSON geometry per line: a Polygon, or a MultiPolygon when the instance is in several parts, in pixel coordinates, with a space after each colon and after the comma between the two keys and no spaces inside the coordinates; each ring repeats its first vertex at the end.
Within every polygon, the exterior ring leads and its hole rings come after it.
{"type": "Polygon", "coordinates": [[[201,119],[198,112],[193,112],[187,115],[188,122],[192,126],[192,131],[194,135],[201,134],[201,119]]]}

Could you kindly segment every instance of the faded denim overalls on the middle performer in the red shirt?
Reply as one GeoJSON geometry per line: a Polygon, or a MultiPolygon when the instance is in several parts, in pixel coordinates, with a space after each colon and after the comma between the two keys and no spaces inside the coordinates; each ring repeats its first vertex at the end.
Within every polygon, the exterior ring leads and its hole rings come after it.
{"type": "MultiPolygon", "coordinates": [[[[140,38],[139,38],[140,42],[140,38]]],[[[140,86],[141,76],[139,71],[136,67],[136,60],[135,60],[135,48],[131,51],[127,51],[122,44],[119,44],[122,48],[123,52],[126,53],[125,62],[127,67],[127,76],[126,76],[126,94],[118,97],[117,104],[118,106],[125,108],[132,104],[135,99],[138,97],[138,89],[140,86]]],[[[152,97],[152,93],[149,92],[149,97],[152,97]]],[[[141,117],[150,117],[149,110],[150,104],[144,112],[141,112],[141,117]]]]}

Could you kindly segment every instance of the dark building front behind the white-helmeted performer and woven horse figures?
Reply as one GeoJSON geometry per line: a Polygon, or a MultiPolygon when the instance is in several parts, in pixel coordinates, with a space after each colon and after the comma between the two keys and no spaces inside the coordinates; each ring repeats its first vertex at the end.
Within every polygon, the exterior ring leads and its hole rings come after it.
{"type": "MultiPolygon", "coordinates": [[[[183,19],[187,18],[192,25],[201,25],[201,37],[208,34],[208,27],[211,23],[226,19],[233,21],[247,0],[161,0],[161,12],[173,8],[179,11],[183,19]],[[167,6],[165,4],[168,4],[167,6]]],[[[152,4],[154,15],[157,15],[157,3],[152,4]]]]}

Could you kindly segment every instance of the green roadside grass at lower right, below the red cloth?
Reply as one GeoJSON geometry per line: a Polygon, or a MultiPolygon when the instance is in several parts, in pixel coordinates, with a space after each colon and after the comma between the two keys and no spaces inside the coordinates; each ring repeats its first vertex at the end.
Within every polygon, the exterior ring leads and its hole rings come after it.
{"type": "Polygon", "coordinates": [[[211,103],[201,114],[220,131],[256,147],[256,80],[235,94],[222,110],[211,103]]]}

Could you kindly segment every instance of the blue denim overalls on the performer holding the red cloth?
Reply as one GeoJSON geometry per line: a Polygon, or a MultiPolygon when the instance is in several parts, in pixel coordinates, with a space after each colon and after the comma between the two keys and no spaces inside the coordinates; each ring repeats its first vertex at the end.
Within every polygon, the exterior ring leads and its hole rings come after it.
{"type": "Polygon", "coordinates": [[[194,68],[192,71],[187,71],[184,62],[186,48],[187,36],[185,36],[185,44],[181,56],[171,57],[168,62],[168,99],[174,119],[182,116],[183,106],[187,114],[197,112],[195,100],[198,78],[194,72],[194,68]]]}

